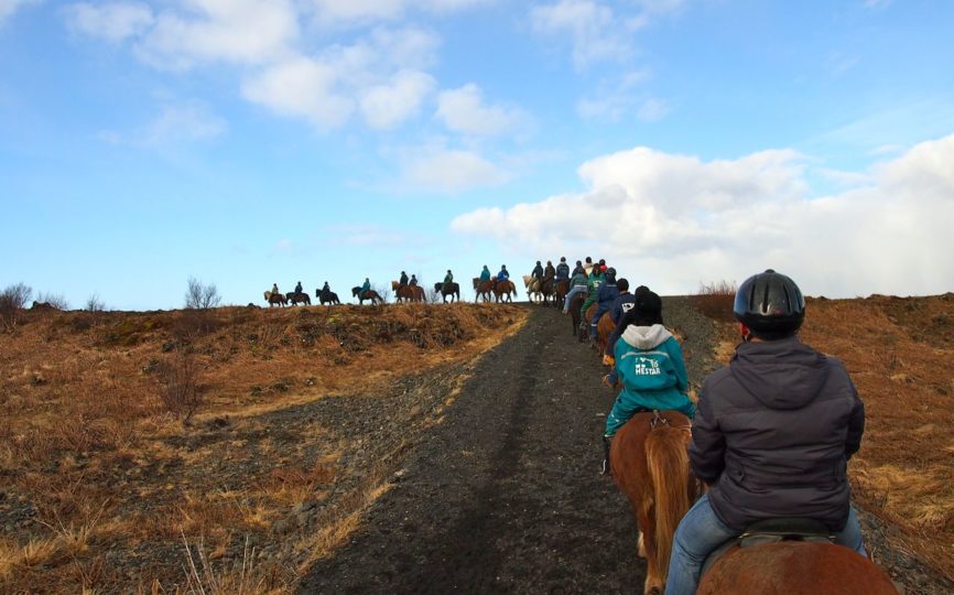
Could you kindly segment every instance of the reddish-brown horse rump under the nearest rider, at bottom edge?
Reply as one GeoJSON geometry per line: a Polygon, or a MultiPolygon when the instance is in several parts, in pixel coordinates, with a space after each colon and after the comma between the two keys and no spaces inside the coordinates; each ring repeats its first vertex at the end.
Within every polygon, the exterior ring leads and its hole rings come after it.
{"type": "Polygon", "coordinates": [[[870,560],[844,545],[780,541],[729,549],[697,595],[898,595],[870,560]]]}

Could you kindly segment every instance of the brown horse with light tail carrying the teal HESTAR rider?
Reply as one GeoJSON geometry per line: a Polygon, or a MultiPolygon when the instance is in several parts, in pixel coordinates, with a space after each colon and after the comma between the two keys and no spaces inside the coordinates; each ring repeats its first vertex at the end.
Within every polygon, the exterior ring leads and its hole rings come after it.
{"type": "Polygon", "coordinates": [[[662,595],[675,528],[700,491],[689,466],[691,437],[689,418],[654,411],[637,413],[612,439],[610,468],[636,515],[647,595],[662,595]]]}

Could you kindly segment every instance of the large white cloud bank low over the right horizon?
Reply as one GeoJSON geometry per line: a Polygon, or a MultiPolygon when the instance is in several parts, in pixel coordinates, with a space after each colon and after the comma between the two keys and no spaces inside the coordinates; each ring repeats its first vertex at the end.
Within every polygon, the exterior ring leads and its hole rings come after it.
{"type": "Polygon", "coordinates": [[[585,246],[665,293],[768,267],[812,295],[940,293],[954,275],[952,160],[954,136],[876,165],[866,187],[812,199],[793,151],[703,162],[637,148],[583,164],[583,193],[477,209],[452,228],[525,258],[585,246]]]}

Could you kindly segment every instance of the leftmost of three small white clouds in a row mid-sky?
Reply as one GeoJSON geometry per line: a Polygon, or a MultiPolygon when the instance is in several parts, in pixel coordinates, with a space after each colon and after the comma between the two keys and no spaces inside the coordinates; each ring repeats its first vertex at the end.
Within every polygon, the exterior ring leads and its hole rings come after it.
{"type": "Polygon", "coordinates": [[[297,57],[246,80],[242,95],[282,116],[305,118],[317,128],[334,128],[355,110],[355,101],[336,90],[337,83],[334,67],[297,57]]]}

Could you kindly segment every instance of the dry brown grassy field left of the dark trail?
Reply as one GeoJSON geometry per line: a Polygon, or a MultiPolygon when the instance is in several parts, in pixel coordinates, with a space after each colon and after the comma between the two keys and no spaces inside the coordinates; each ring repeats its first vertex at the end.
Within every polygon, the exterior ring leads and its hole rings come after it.
{"type": "Polygon", "coordinates": [[[230,307],[202,320],[24,311],[0,336],[0,527],[14,527],[0,538],[0,592],[293,589],[300,561],[354,530],[389,476],[382,466],[318,524],[270,537],[294,506],[325,498],[347,445],[329,443],[319,419],[284,429],[269,415],[387,393],[473,359],[524,320],[483,304],[230,307]],[[203,397],[187,426],[161,390],[164,363],[185,353],[203,397]],[[250,536],[291,540],[291,553],[252,556],[250,536]]]}

